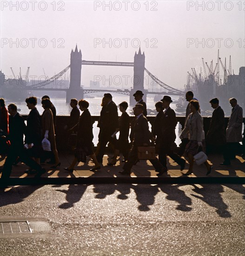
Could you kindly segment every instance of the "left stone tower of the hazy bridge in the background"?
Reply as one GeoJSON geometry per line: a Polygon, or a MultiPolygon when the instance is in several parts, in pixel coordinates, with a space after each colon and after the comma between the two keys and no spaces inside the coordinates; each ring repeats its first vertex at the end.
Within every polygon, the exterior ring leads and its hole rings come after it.
{"type": "Polygon", "coordinates": [[[82,69],[82,53],[78,51],[76,45],[75,51],[71,51],[71,75],[70,87],[66,91],[66,102],[70,102],[72,98],[83,99],[83,89],[81,88],[81,69],[82,69]]]}

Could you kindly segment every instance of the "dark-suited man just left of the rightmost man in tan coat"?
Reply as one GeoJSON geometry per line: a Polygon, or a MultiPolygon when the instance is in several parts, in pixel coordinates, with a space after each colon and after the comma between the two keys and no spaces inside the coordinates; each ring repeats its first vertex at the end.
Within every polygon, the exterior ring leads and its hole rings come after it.
{"type": "Polygon", "coordinates": [[[212,151],[221,151],[225,145],[225,113],[219,106],[219,99],[214,98],[209,102],[214,110],[206,135],[207,154],[212,151]]]}

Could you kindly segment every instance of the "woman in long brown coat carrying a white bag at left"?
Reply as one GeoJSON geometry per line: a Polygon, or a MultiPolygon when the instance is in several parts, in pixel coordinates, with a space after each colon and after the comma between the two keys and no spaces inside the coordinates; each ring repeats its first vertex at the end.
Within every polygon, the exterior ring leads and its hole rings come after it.
{"type": "Polygon", "coordinates": [[[55,163],[51,168],[57,168],[60,166],[60,160],[55,143],[53,114],[50,109],[52,107],[51,101],[49,99],[43,99],[42,107],[44,108],[44,112],[42,114],[42,139],[47,138],[50,141],[51,150],[53,151],[55,158],[55,163]]]}

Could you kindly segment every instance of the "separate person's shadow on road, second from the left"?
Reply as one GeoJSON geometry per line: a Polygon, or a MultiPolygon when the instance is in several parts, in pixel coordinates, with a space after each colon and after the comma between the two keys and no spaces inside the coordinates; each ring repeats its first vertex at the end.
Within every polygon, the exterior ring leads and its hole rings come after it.
{"type": "Polygon", "coordinates": [[[59,208],[60,209],[72,208],[74,204],[76,202],[79,202],[79,200],[82,198],[88,186],[89,185],[87,184],[78,184],[78,185],[70,184],[68,190],[56,189],[56,191],[60,191],[66,194],[67,202],[60,204],[59,208]]]}

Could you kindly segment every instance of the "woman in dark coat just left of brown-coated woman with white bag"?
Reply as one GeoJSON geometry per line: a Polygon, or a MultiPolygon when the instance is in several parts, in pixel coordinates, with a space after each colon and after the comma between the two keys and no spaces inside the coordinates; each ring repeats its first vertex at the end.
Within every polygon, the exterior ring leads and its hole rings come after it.
{"type": "MultiPolygon", "coordinates": [[[[34,160],[40,164],[40,155],[42,153],[42,123],[36,105],[36,97],[26,98],[26,106],[31,111],[27,115],[25,143],[28,145],[30,156],[34,157],[34,160]]],[[[28,172],[31,172],[31,169],[28,172]]]]}

